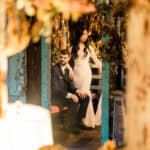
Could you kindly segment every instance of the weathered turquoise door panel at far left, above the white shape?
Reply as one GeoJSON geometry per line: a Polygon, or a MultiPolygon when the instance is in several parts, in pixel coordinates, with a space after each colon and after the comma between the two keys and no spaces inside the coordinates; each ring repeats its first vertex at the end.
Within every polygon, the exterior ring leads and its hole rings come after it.
{"type": "Polygon", "coordinates": [[[25,52],[9,58],[7,82],[9,102],[25,102],[25,52]]]}

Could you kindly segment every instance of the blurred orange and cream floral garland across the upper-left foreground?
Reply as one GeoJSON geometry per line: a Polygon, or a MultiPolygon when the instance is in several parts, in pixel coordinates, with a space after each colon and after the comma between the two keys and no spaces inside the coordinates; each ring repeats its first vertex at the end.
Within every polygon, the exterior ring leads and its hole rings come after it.
{"type": "Polygon", "coordinates": [[[11,56],[25,49],[41,36],[50,41],[53,17],[76,20],[83,13],[95,11],[88,0],[1,0],[0,54],[11,56]]]}

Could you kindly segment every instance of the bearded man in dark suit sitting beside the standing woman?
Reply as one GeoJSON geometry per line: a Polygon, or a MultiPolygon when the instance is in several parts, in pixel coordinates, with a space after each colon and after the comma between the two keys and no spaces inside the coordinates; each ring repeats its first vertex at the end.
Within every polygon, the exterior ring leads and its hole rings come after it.
{"type": "Polygon", "coordinates": [[[69,59],[70,52],[66,49],[61,50],[59,62],[52,67],[51,108],[57,110],[67,106],[69,108],[67,114],[68,131],[78,134],[79,128],[83,127],[82,118],[85,117],[89,97],[74,87],[67,67],[69,59]]]}

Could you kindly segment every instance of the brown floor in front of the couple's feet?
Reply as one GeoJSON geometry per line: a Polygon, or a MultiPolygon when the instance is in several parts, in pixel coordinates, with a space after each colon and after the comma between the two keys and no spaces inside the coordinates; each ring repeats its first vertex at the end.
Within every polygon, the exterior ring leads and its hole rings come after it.
{"type": "Polygon", "coordinates": [[[79,135],[56,129],[53,132],[54,143],[63,145],[67,150],[97,150],[100,146],[100,127],[81,130],[79,135]]]}

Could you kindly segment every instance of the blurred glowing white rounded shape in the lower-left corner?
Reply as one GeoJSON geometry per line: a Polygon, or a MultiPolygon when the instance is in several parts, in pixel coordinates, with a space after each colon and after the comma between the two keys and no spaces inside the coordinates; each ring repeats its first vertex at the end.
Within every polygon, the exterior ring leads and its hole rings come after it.
{"type": "Polygon", "coordinates": [[[53,144],[50,113],[29,104],[9,104],[0,119],[0,150],[38,150],[53,144]]]}

